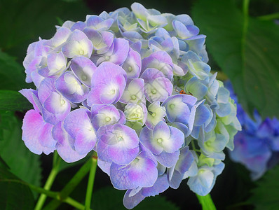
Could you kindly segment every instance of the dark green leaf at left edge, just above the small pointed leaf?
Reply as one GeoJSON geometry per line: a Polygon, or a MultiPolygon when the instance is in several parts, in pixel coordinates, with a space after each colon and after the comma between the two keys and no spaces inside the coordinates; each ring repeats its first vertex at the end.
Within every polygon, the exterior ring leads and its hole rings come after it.
{"type": "Polygon", "coordinates": [[[30,85],[25,83],[24,70],[23,66],[18,64],[14,57],[0,49],[0,89],[20,90],[22,87],[29,87],[30,85]]]}

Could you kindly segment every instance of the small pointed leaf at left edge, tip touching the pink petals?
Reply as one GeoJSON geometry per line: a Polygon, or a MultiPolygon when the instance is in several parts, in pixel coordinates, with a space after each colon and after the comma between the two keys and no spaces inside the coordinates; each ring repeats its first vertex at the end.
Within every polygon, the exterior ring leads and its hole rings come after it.
{"type": "Polygon", "coordinates": [[[0,110],[25,111],[32,109],[32,104],[17,91],[0,90],[0,110]]]}

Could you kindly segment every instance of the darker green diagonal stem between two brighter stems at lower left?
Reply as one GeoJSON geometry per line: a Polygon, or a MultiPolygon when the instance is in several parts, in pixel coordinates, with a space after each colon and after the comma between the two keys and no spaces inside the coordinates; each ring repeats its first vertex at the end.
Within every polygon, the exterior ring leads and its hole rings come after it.
{"type": "Polygon", "coordinates": [[[92,165],[92,160],[88,160],[78,172],[74,175],[74,177],[67,183],[67,185],[61,190],[59,196],[60,199],[52,200],[44,209],[57,209],[60,206],[61,202],[67,199],[70,193],[76,188],[76,186],[81,182],[84,176],[89,172],[90,167],[92,165]]]}

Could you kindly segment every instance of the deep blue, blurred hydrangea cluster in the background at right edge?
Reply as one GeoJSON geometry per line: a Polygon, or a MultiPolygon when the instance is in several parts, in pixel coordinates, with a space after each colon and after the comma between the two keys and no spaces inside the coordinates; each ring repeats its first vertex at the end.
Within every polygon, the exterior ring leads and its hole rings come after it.
{"type": "MultiPolygon", "coordinates": [[[[226,82],[226,87],[237,102],[231,83],[226,82]]],[[[252,180],[256,180],[279,162],[279,120],[262,120],[256,110],[253,120],[240,104],[237,104],[237,107],[237,116],[243,130],[236,134],[235,148],[230,151],[230,158],[245,165],[251,172],[252,180]]]]}

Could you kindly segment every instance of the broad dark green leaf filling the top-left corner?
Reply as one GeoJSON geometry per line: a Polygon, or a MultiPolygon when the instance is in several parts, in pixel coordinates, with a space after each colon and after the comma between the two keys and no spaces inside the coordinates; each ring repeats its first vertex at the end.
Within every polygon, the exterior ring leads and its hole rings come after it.
{"type": "Polygon", "coordinates": [[[90,10],[82,0],[0,1],[0,46],[23,60],[27,46],[55,34],[57,18],[84,21],[90,10]]]}

